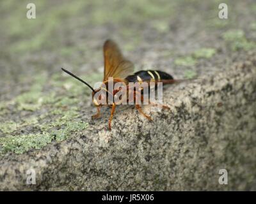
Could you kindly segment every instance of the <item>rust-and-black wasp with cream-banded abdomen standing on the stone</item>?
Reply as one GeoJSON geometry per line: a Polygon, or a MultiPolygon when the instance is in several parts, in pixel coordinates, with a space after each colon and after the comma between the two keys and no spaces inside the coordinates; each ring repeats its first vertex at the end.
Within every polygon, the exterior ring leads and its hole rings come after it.
{"type": "MultiPolygon", "coordinates": [[[[106,40],[103,46],[103,54],[104,54],[104,78],[102,82],[102,86],[99,87],[99,89],[93,89],[91,85],[84,82],[81,78],[77,77],[73,73],[70,73],[70,71],[67,71],[66,69],[61,68],[63,71],[68,73],[68,75],[71,75],[72,77],[76,78],[80,82],[83,82],[83,84],[87,85],[90,89],[92,89],[92,99],[94,105],[97,107],[97,114],[93,115],[92,118],[98,118],[100,117],[100,107],[102,104],[99,103],[97,99],[94,98],[95,94],[97,92],[101,91],[103,87],[106,88],[106,93],[111,94],[115,97],[116,90],[108,90],[108,82],[109,78],[113,78],[113,83],[116,82],[122,82],[124,83],[128,88],[127,95],[133,95],[135,98],[140,98],[141,101],[143,101],[143,96],[138,91],[135,91],[134,87],[132,89],[129,89],[129,82],[133,83],[141,83],[141,82],[162,82],[164,84],[173,84],[177,82],[184,82],[188,81],[186,79],[184,80],[174,80],[172,75],[169,75],[168,73],[165,73],[163,71],[154,71],[154,70],[147,70],[147,71],[138,71],[136,73],[134,72],[134,65],[131,61],[128,61],[125,59],[125,57],[122,55],[122,52],[120,52],[120,49],[118,48],[118,45],[112,40],[106,40]],[[132,74],[133,73],[133,74],[132,74]]],[[[100,96],[100,97],[106,97],[107,96],[100,96]]],[[[129,97],[128,97],[129,98],[129,97]]],[[[127,98],[127,99],[128,99],[127,98]]],[[[157,106],[157,104],[151,103],[148,101],[150,105],[157,106]]],[[[111,102],[111,104],[108,105],[111,106],[111,115],[109,117],[108,127],[111,129],[111,120],[113,119],[113,115],[115,113],[116,105],[120,105],[121,103],[116,104],[115,102],[111,102]]],[[[170,109],[168,106],[161,105],[163,108],[170,109]]],[[[138,111],[145,116],[148,120],[152,120],[149,115],[143,112],[141,105],[136,104],[135,107],[138,109],[138,111]]]]}

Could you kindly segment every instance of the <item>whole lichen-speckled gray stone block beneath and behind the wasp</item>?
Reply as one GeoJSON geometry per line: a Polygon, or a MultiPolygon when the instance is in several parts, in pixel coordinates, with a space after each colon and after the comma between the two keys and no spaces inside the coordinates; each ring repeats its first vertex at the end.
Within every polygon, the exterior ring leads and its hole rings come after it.
{"type": "Polygon", "coordinates": [[[227,1],[227,20],[221,1],[73,2],[35,1],[35,20],[1,3],[0,189],[256,190],[255,2],[227,1]],[[107,38],[136,70],[202,80],[166,87],[152,122],[116,108],[108,131],[109,109],[91,120],[90,91],[60,71],[102,80],[107,38]]]}

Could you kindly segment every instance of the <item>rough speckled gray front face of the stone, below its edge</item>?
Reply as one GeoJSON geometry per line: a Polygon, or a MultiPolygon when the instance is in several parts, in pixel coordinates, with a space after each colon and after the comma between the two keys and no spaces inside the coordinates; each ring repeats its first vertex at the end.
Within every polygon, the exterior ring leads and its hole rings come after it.
{"type": "MultiPolygon", "coordinates": [[[[65,142],[0,161],[1,190],[252,190],[256,179],[256,58],[180,90],[153,122],[127,108],[65,142]],[[26,171],[36,185],[26,185],[26,171]],[[228,184],[220,185],[220,169],[228,184]]],[[[147,107],[146,107],[147,108],[147,107]]]]}

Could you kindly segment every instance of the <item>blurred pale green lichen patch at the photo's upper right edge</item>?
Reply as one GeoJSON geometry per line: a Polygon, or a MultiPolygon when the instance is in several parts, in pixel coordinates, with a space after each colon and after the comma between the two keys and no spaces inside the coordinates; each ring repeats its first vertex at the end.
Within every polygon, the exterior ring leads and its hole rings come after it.
{"type": "Polygon", "coordinates": [[[227,41],[232,50],[254,50],[256,49],[256,43],[246,39],[244,31],[234,30],[223,33],[223,39],[227,41]]]}

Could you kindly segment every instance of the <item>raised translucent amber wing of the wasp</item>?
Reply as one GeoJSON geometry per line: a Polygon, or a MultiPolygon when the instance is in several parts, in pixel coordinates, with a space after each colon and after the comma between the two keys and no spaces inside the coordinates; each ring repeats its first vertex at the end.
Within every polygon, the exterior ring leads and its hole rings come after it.
{"type": "Polygon", "coordinates": [[[116,43],[107,40],[103,47],[104,52],[104,81],[109,77],[125,78],[134,71],[132,62],[124,58],[116,43]]]}

